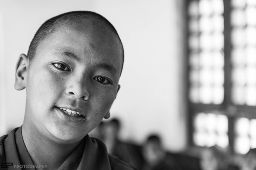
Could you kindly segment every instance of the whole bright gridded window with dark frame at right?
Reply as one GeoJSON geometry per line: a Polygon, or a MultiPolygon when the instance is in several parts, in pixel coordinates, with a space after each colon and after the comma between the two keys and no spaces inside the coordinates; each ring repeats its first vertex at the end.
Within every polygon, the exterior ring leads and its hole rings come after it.
{"type": "Polygon", "coordinates": [[[188,1],[192,144],[256,147],[256,1],[188,1]]]}

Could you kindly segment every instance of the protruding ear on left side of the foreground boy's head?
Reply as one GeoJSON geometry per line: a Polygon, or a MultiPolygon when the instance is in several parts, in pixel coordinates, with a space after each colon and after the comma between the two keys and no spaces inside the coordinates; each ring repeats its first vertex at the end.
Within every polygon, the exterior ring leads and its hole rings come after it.
{"type": "Polygon", "coordinates": [[[15,70],[15,84],[16,90],[23,90],[26,88],[26,74],[29,67],[29,59],[25,54],[20,54],[15,70]]]}

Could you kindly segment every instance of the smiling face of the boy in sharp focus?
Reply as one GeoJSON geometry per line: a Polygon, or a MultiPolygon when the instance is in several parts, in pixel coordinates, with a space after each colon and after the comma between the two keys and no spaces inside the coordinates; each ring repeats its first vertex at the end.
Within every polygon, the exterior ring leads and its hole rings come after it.
{"type": "Polygon", "coordinates": [[[79,28],[58,29],[41,42],[24,77],[24,122],[54,140],[83,138],[108,117],[119,89],[118,39],[104,27],[79,28]]]}

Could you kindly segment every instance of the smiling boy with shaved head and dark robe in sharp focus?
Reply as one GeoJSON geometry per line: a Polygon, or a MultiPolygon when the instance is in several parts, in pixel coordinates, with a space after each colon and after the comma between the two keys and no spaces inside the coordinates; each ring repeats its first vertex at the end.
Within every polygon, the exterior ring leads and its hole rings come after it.
{"type": "Polygon", "coordinates": [[[132,170],[87,135],[110,116],[123,61],[116,29],[101,15],[72,11],[47,20],[17,61],[25,117],[0,138],[1,169],[132,170]]]}

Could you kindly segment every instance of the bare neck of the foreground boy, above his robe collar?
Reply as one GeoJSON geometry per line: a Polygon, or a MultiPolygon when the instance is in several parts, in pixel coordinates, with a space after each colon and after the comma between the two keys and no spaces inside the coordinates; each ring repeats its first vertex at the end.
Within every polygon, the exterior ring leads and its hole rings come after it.
{"type": "Polygon", "coordinates": [[[35,128],[22,127],[23,141],[35,165],[45,164],[47,169],[55,170],[67,159],[81,142],[56,142],[41,135],[35,128]]]}

